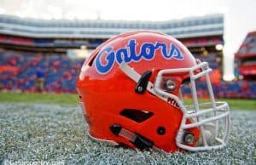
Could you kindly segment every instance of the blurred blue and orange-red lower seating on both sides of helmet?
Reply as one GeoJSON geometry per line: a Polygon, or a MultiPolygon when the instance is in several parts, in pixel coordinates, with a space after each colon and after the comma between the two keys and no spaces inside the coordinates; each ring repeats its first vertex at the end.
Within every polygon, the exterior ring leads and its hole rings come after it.
{"type": "MultiPolygon", "coordinates": [[[[212,58],[212,56],[209,56],[212,58]]],[[[211,59],[210,58],[210,59],[211,59]]],[[[210,60],[209,60],[210,61],[210,60]]],[[[36,92],[37,71],[44,71],[43,92],[75,93],[75,83],[84,60],[70,60],[66,54],[37,54],[16,51],[0,51],[0,65],[15,67],[14,70],[0,71],[2,90],[36,92]]],[[[198,96],[206,98],[205,81],[197,84],[198,96]]],[[[212,83],[217,97],[256,98],[256,82],[218,82],[212,83]]],[[[183,88],[189,97],[189,87],[183,88]]]]}

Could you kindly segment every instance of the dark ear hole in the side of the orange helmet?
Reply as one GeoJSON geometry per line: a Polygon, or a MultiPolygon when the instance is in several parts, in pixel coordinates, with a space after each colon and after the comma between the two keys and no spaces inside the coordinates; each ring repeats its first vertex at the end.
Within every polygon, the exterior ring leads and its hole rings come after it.
{"type": "Polygon", "coordinates": [[[127,117],[134,122],[144,122],[148,120],[148,118],[152,117],[154,113],[143,110],[124,109],[120,112],[120,115],[123,117],[127,117]]]}

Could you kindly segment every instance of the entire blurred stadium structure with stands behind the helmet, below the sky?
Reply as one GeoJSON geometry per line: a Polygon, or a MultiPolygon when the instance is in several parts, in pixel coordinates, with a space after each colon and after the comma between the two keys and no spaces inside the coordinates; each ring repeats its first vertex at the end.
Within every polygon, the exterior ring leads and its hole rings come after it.
{"type": "MultiPolygon", "coordinates": [[[[217,97],[256,98],[256,32],[249,32],[237,48],[236,78],[224,81],[223,14],[165,21],[38,20],[1,14],[0,90],[75,93],[79,69],[94,48],[119,33],[142,29],[177,37],[196,58],[209,62],[217,97]]],[[[197,88],[204,97],[207,87],[201,81],[197,88]]]]}

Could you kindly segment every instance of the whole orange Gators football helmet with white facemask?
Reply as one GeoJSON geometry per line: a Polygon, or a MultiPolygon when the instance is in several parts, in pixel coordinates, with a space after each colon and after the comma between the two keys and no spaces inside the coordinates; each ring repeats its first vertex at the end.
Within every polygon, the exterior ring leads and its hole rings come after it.
{"type": "Polygon", "coordinates": [[[182,43],[157,31],[110,38],[84,62],[77,83],[90,138],[166,152],[222,148],[230,110],[215,101],[210,71],[182,43]],[[201,77],[206,103],[197,97],[201,77]],[[183,100],[183,87],[191,90],[192,105],[183,100]]]}

